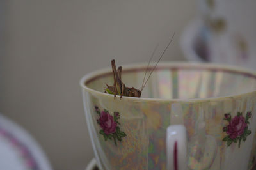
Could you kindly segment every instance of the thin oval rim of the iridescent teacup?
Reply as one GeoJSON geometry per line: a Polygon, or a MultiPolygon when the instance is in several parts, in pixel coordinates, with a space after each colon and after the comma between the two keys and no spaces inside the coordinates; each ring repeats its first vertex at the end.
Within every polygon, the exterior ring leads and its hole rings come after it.
{"type": "MultiPolygon", "coordinates": [[[[151,63],[150,66],[154,66],[156,63],[151,63]]],[[[129,72],[131,70],[145,70],[147,68],[148,63],[132,63],[129,65],[123,65],[122,70],[123,72],[129,72]]],[[[227,72],[234,72],[234,73],[241,73],[250,77],[255,77],[256,79],[256,71],[243,68],[240,66],[232,66],[232,65],[223,65],[220,63],[202,63],[202,62],[186,62],[186,61],[162,61],[159,62],[157,65],[157,68],[163,68],[163,67],[169,67],[172,69],[178,69],[178,68],[196,68],[196,69],[208,69],[208,70],[225,70],[227,72]]],[[[109,97],[109,99],[113,98],[113,95],[104,93],[101,91],[97,91],[95,89],[89,88],[86,86],[86,82],[93,81],[94,79],[97,79],[99,77],[102,77],[104,75],[111,74],[112,70],[111,68],[102,68],[100,70],[95,70],[90,73],[86,73],[81,79],[80,79],[80,86],[82,89],[86,89],[90,91],[91,93],[94,93],[95,95],[103,95],[104,97],[109,97]]],[[[242,97],[242,96],[250,96],[250,95],[256,95],[256,90],[247,92],[247,93],[240,93],[236,95],[225,95],[223,97],[207,97],[207,98],[188,98],[188,99],[180,99],[180,98],[143,98],[143,97],[122,97],[122,100],[132,100],[134,102],[142,102],[142,101],[150,101],[150,102],[204,102],[204,101],[214,101],[214,100],[224,100],[226,98],[236,98],[236,97],[242,97]]],[[[116,95],[117,98],[119,98],[119,95],[116,95]]]]}

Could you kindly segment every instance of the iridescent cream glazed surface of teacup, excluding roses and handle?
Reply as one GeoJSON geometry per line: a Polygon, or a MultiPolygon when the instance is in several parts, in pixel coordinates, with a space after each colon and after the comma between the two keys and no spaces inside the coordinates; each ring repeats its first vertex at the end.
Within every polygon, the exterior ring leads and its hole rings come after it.
{"type": "MultiPolygon", "coordinates": [[[[141,87],[145,65],[124,66],[126,86],[141,87]]],[[[86,121],[95,157],[102,169],[166,169],[166,128],[185,125],[188,134],[188,169],[249,169],[256,148],[256,73],[243,69],[188,63],[161,63],[141,98],[121,100],[104,92],[113,84],[111,70],[81,79],[86,121]],[[120,113],[120,130],[126,136],[117,146],[104,140],[97,123],[100,111],[120,113]],[[229,113],[251,112],[251,134],[227,146],[224,120],[229,113]]],[[[109,116],[109,117],[111,117],[109,116]]]]}

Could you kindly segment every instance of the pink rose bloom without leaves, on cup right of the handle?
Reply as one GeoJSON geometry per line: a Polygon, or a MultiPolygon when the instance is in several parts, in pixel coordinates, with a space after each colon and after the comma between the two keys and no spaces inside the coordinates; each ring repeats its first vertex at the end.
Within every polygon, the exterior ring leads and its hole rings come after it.
{"type": "Polygon", "coordinates": [[[244,129],[246,128],[247,123],[243,116],[235,116],[229,122],[227,127],[227,134],[230,135],[231,139],[236,139],[237,136],[242,135],[244,133],[244,129]]]}

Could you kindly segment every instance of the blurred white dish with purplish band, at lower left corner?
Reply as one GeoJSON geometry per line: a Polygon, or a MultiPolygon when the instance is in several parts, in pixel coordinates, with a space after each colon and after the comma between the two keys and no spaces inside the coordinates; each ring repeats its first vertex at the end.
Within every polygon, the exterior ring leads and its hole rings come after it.
{"type": "Polygon", "coordinates": [[[0,169],[52,169],[44,152],[31,135],[2,114],[0,114],[0,169]]]}

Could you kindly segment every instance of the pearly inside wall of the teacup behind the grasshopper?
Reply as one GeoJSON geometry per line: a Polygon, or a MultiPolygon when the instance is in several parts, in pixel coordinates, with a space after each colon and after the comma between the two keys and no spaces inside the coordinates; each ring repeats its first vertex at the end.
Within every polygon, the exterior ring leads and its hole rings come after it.
{"type": "MultiPolygon", "coordinates": [[[[152,70],[148,68],[145,78],[152,70]]],[[[127,66],[122,71],[126,87],[141,89],[147,64],[127,66]]],[[[113,86],[113,73],[96,73],[85,86],[104,93],[106,84],[113,86]]],[[[241,95],[256,91],[256,74],[241,69],[207,64],[159,64],[142,91],[142,98],[192,99],[241,95]]]]}

